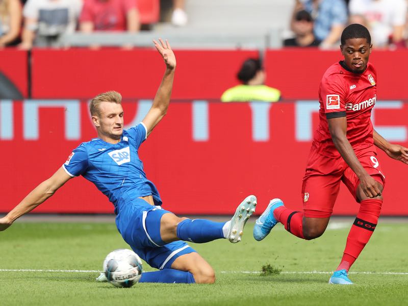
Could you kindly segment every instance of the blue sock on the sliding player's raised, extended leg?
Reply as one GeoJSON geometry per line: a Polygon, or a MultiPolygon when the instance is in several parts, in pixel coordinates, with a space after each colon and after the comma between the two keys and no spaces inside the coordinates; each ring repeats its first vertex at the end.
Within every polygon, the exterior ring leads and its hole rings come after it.
{"type": "Polygon", "coordinates": [[[184,241],[203,243],[225,238],[222,226],[226,222],[214,222],[203,219],[186,219],[177,225],[177,237],[184,241]]]}

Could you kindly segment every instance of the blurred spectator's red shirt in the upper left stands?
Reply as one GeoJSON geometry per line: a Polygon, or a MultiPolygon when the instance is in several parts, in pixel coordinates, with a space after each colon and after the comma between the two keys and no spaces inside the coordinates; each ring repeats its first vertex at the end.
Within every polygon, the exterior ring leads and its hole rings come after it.
{"type": "Polygon", "coordinates": [[[85,0],[80,22],[91,21],[94,31],[126,31],[126,14],[136,4],[136,0],[85,0]]]}

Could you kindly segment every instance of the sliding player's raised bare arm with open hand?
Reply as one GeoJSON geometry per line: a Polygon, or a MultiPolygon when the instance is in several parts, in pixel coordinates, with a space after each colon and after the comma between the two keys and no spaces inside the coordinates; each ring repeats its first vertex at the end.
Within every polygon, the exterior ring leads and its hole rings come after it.
{"type": "Polygon", "coordinates": [[[164,42],[161,38],[159,38],[159,41],[160,43],[158,43],[156,40],[153,42],[155,43],[156,49],[164,59],[166,71],[164,72],[162,83],[156,92],[153,104],[146,117],[144,117],[142,120],[147,129],[147,136],[150,135],[151,131],[167,113],[170,103],[171,90],[173,88],[174,69],[176,66],[175,56],[171,50],[169,42],[167,40],[164,42]]]}

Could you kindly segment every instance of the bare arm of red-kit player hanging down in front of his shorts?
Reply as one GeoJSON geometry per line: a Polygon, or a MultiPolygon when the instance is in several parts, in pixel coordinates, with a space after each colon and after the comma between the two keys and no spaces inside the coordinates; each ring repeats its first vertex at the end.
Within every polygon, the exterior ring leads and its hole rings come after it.
{"type": "Polygon", "coordinates": [[[359,177],[360,186],[366,196],[372,198],[381,195],[376,181],[367,173],[364,167],[360,164],[355,156],[353,147],[347,139],[347,119],[346,117],[327,119],[328,128],[330,130],[331,139],[340,152],[340,155],[347,165],[359,177]]]}

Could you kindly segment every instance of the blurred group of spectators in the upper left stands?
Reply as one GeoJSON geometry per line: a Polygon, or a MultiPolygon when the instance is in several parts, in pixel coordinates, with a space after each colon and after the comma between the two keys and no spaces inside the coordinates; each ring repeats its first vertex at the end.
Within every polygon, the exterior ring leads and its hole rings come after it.
{"type": "MultiPolygon", "coordinates": [[[[185,0],[172,5],[171,23],[186,25],[185,0]]],[[[75,31],[136,33],[158,22],[159,11],[159,0],[0,0],[0,47],[54,46],[75,31]]]]}

